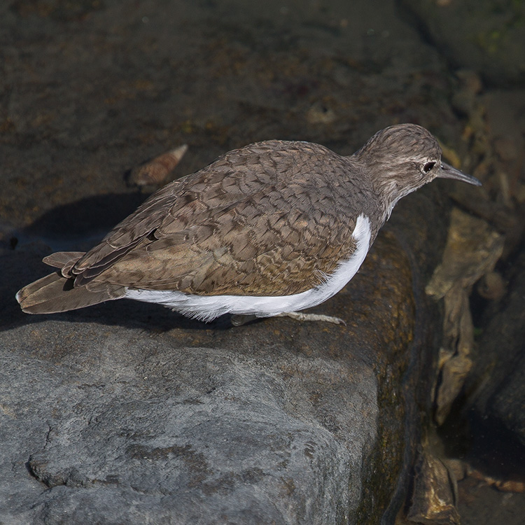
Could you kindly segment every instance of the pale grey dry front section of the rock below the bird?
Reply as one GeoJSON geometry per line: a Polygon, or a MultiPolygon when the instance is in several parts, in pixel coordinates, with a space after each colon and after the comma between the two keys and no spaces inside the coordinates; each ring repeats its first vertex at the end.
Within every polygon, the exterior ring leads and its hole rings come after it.
{"type": "Polygon", "coordinates": [[[31,508],[45,523],[335,523],[358,504],[378,416],[362,362],[45,325],[38,343],[28,326],[6,335],[61,355],[2,356],[2,384],[22,383],[3,392],[3,429],[26,456],[3,464],[41,492],[12,492],[11,519],[31,508]]]}

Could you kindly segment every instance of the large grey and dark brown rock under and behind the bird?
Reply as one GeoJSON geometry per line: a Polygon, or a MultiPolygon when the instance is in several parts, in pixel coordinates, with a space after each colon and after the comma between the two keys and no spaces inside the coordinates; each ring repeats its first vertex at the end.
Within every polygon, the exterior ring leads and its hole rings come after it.
{"type": "Polygon", "coordinates": [[[349,154],[407,121],[458,138],[447,65],[393,2],[239,5],[1,3],[3,523],[363,525],[403,503],[447,181],[398,204],[316,309],[346,327],[14,300],[44,255],[89,248],[144,199],[127,170],[180,144],[174,176],[263,139],[349,154]]]}

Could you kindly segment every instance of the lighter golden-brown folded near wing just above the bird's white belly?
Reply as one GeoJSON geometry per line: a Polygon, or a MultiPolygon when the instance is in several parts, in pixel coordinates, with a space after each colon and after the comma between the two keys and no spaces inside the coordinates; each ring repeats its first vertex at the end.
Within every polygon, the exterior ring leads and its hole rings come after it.
{"type": "Polygon", "coordinates": [[[95,281],[199,295],[286,295],[321,283],[354,248],[350,229],[298,210],[248,220],[243,202],[214,221],[154,232],[95,281]]]}

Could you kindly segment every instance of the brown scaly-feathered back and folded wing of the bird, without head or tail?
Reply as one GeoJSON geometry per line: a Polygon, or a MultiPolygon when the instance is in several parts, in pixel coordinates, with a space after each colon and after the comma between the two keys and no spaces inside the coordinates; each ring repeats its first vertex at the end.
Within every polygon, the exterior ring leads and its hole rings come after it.
{"type": "Polygon", "coordinates": [[[304,174],[302,144],[257,147],[153,195],[76,263],[77,284],[282,295],[283,283],[286,294],[320,283],[355,248],[355,223],[338,220],[339,194],[323,183],[323,170],[341,169],[337,159],[304,174]]]}

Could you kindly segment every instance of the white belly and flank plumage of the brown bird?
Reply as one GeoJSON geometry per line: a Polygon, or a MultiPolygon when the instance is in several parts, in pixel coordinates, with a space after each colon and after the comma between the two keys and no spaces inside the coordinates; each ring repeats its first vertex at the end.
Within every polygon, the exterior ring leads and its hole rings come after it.
{"type": "Polygon", "coordinates": [[[201,321],[211,321],[228,313],[271,317],[311,308],[341,290],[363,264],[368,248],[370,248],[370,219],[361,214],[352,235],[356,241],[356,251],[351,257],[339,262],[335,272],[325,276],[321,284],[302,293],[258,297],[253,295],[190,295],[172,290],[127,288],[125,297],[137,301],[156,302],[201,321]]]}

